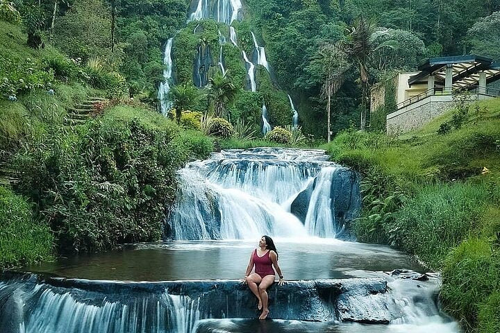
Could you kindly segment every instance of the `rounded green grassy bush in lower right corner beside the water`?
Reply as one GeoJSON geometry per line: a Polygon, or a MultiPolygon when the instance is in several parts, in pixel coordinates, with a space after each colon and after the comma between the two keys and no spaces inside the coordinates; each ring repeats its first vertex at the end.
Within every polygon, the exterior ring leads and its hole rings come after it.
{"type": "Polygon", "coordinates": [[[483,320],[486,319],[483,325],[498,327],[498,316],[496,319],[484,316],[498,311],[498,308],[491,307],[495,302],[498,304],[498,296],[490,300],[488,296],[499,290],[500,258],[492,251],[487,241],[469,239],[447,257],[443,270],[441,298],[447,311],[453,316],[465,318],[469,327],[477,325],[480,308],[483,310],[483,320]],[[485,304],[480,306],[483,302],[485,304]]]}

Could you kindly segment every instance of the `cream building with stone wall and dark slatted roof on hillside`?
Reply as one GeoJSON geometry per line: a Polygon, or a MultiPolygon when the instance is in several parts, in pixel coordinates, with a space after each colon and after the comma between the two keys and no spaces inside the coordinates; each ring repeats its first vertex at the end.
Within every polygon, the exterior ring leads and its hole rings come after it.
{"type": "MultiPolygon", "coordinates": [[[[500,64],[481,56],[430,58],[419,71],[394,78],[396,111],[387,114],[387,134],[414,130],[453,107],[453,94],[468,91],[472,100],[500,96],[500,64]]],[[[385,99],[385,89],[372,89],[371,111],[385,99]]]]}

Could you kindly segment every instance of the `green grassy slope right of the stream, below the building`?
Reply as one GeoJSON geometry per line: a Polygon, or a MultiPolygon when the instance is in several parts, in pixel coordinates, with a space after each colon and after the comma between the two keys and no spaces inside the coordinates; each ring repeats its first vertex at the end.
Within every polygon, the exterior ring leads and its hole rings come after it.
{"type": "Polygon", "coordinates": [[[443,272],[447,311],[468,330],[500,332],[500,99],[437,135],[452,114],[399,138],[342,133],[324,148],[365,175],[358,239],[424,259],[443,272]]]}

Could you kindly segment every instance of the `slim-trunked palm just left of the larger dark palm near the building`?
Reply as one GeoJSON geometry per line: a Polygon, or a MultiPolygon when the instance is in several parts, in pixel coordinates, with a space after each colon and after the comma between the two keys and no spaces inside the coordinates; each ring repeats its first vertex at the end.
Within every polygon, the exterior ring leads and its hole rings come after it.
{"type": "Polygon", "coordinates": [[[331,98],[344,83],[344,74],[351,67],[347,55],[338,44],[324,43],[319,46],[314,62],[324,71],[322,95],[326,96],[328,142],[331,141],[331,98]]]}

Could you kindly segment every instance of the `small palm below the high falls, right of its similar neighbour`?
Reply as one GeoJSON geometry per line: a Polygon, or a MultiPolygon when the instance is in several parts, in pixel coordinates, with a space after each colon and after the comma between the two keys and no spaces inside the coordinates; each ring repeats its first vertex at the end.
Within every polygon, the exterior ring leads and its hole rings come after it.
{"type": "Polygon", "coordinates": [[[226,105],[235,99],[238,88],[233,85],[231,78],[222,76],[219,72],[208,79],[208,96],[214,101],[215,115],[226,118],[226,105]]]}

